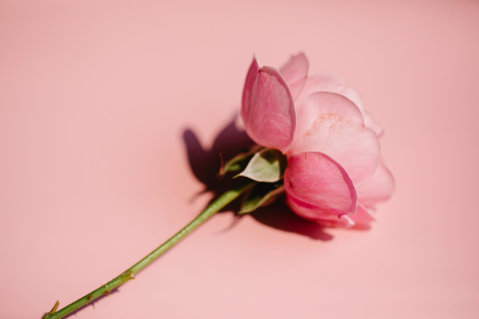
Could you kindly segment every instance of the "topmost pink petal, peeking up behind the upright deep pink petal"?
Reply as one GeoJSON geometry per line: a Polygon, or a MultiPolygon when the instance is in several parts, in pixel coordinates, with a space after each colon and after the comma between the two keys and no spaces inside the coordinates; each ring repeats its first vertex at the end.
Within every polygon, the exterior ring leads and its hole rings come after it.
{"type": "Polygon", "coordinates": [[[292,56],[289,61],[279,69],[281,75],[288,83],[293,99],[296,99],[306,82],[309,62],[304,53],[292,56]]]}

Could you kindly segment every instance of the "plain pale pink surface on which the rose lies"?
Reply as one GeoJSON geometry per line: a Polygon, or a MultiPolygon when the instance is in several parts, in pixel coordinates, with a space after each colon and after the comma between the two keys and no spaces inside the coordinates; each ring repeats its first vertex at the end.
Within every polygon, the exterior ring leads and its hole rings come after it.
{"type": "Polygon", "coordinates": [[[252,54],[304,50],[386,129],[374,227],[219,214],[71,318],[477,318],[479,2],[226,2],[1,2],[0,317],[40,319],[193,218],[212,194],[191,200],[184,130],[210,148],[252,54]]]}

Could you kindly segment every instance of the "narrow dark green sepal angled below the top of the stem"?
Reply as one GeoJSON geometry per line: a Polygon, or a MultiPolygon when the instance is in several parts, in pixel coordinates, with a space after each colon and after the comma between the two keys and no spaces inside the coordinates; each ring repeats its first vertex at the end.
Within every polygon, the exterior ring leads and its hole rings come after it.
{"type": "Polygon", "coordinates": [[[245,194],[239,215],[255,211],[261,206],[271,204],[285,192],[283,181],[277,183],[258,183],[245,194]]]}

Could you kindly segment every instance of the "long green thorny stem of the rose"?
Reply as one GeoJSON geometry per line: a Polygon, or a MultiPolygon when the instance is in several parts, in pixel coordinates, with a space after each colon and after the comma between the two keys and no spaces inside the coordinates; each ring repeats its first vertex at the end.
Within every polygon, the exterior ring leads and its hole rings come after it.
{"type": "Polygon", "coordinates": [[[43,319],[59,319],[62,318],[66,315],[68,315],[70,312],[80,308],[83,305],[87,305],[89,302],[95,300],[99,296],[102,296],[103,294],[108,294],[113,290],[114,288],[124,284],[130,279],[135,279],[134,275],[138,273],[140,270],[148,266],[151,262],[153,262],[155,259],[160,257],[163,253],[168,251],[171,247],[173,247],[178,241],[183,239],[186,235],[188,235],[194,228],[198,227],[201,225],[206,219],[209,217],[215,215],[221,208],[225,207],[229,203],[231,203],[234,199],[236,199],[240,194],[244,193],[248,189],[250,189],[256,182],[245,179],[244,181],[240,182],[239,185],[227,192],[225,192],[223,195],[218,197],[213,203],[211,203],[206,209],[196,216],[191,223],[186,225],[182,230],[180,230],[176,235],[165,241],[160,247],[152,251],[148,256],[134,264],[132,267],[128,268],[124,273],[120,274],[118,277],[114,278],[113,280],[109,281],[105,285],[102,285],[100,288],[93,290],[91,293],[89,293],[86,296],[81,297],[80,299],[72,302],[68,306],[61,308],[60,310],[56,311],[58,308],[58,301],[55,303],[55,306],[52,308],[50,312],[45,314],[43,319]]]}

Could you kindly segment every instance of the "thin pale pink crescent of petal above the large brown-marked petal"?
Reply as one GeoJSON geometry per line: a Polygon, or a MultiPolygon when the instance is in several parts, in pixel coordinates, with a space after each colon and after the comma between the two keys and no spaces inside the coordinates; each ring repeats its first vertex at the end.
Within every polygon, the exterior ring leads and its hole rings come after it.
{"type": "Polygon", "coordinates": [[[304,88],[301,91],[301,94],[299,94],[297,97],[296,101],[300,101],[308,95],[316,92],[331,92],[341,94],[356,104],[356,106],[361,110],[361,113],[364,114],[363,101],[361,100],[359,94],[353,89],[347,88],[344,85],[344,80],[339,77],[329,74],[314,75],[309,77],[306,80],[304,88]]]}

